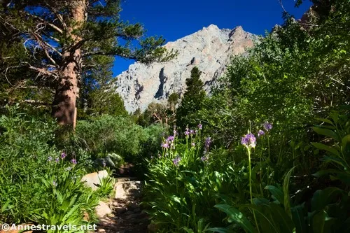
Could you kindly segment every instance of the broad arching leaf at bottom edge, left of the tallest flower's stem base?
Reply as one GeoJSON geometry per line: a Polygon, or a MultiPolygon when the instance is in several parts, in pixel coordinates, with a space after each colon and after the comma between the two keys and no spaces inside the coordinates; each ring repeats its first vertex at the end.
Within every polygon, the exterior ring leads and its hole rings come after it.
{"type": "Polygon", "coordinates": [[[217,204],[214,206],[215,208],[225,212],[228,215],[228,218],[232,220],[233,222],[237,223],[239,226],[241,226],[246,232],[256,232],[255,228],[249,220],[241,213],[239,210],[235,209],[232,206],[229,206],[227,204],[217,204]]]}

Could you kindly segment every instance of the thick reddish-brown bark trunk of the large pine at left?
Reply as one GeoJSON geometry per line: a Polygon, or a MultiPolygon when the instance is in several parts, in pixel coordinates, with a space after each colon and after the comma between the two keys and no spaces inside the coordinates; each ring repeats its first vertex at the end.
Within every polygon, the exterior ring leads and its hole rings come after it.
{"type": "Polygon", "coordinates": [[[68,23],[66,33],[72,43],[64,46],[62,52],[61,79],[52,103],[52,116],[57,118],[60,125],[76,125],[76,99],[78,98],[78,80],[81,71],[80,48],[72,50],[72,45],[81,41],[80,36],[73,34],[73,30],[80,27],[85,21],[86,0],[71,1],[71,22],[68,23]]]}

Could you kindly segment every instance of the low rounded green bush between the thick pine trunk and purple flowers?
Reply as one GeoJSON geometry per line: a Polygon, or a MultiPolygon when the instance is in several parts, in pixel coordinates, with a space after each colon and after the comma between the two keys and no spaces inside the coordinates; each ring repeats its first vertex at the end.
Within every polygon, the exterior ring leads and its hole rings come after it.
{"type": "Polygon", "coordinates": [[[134,162],[150,157],[158,150],[164,130],[161,125],[143,128],[125,116],[102,115],[78,121],[75,137],[80,147],[85,147],[92,157],[115,153],[134,162]]]}

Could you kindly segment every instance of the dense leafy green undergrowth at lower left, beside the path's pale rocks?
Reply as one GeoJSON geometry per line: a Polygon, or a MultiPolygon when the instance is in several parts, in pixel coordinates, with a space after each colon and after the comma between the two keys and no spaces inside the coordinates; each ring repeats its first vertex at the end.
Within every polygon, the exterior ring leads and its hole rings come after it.
{"type": "Polygon", "coordinates": [[[0,222],[86,225],[97,195],[85,188],[80,159],[54,144],[57,125],[18,107],[0,118],[0,222]]]}

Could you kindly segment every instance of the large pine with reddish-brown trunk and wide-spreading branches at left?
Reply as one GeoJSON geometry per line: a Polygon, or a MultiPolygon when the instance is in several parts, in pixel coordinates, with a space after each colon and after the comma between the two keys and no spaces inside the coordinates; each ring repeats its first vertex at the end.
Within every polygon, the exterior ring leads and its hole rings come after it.
{"type": "Polygon", "coordinates": [[[60,124],[73,124],[82,77],[99,66],[95,57],[119,56],[146,63],[174,57],[160,47],[165,42],[161,37],[134,45],[132,41],[145,30],[139,23],[120,20],[120,10],[119,0],[12,0],[6,8],[0,6],[5,35],[1,37],[22,46],[20,56],[0,53],[1,83],[8,81],[11,88],[31,86],[31,92],[49,89],[52,116],[60,124]],[[19,70],[26,75],[15,76],[19,70]]]}

